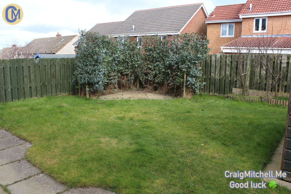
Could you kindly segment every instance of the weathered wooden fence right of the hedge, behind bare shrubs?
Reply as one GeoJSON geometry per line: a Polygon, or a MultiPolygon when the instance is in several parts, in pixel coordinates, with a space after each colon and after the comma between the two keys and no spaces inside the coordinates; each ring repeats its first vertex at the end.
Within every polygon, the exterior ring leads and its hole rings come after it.
{"type": "MultiPolygon", "coordinates": [[[[202,79],[201,82],[205,82],[205,85],[200,89],[201,93],[210,93],[218,95],[227,95],[232,92],[239,93],[242,87],[241,81],[237,80],[239,77],[238,62],[235,59],[235,54],[209,54],[202,65],[202,79]],[[237,75],[237,76],[235,76],[237,75]]],[[[272,57],[271,55],[269,57],[272,57]]],[[[291,68],[290,54],[282,55],[280,61],[280,70],[291,68]]],[[[251,60],[249,63],[249,71],[246,79],[246,95],[265,95],[267,93],[272,95],[275,91],[273,80],[268,79],[265,75],[268,72],[264,70],[259,60],[251,60]],[[262,72],[265,71],[265,72],[262,72]]],[[[273,64],[276,63],[273,59],[273,64]]],[[[278,83],[278,94],[281,96],[288,96],[290,92],[291,71],[285,75],[285,79],[278,83]],[[288,83],[288,84],[287,84],[288,83]]]]}

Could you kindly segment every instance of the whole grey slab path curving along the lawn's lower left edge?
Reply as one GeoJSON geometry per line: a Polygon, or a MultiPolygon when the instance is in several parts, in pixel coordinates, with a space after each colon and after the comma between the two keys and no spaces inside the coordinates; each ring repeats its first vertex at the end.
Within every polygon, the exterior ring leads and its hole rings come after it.
{"type": "MultiPolygon", "coordinates": [[[[68,188],[25,158],[30,143],[19,139],[4,129],[0,129],[0,185],[13,194],[112,194],[101,188],[68,188]]],[[[0,194],[7,194],[0,187],[0,194]]]]}

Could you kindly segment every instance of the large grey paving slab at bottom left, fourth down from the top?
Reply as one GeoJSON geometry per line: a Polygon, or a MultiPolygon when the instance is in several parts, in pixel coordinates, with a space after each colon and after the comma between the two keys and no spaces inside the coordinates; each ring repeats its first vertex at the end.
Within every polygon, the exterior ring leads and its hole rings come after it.
{"type": "Polygon", "coordinates": [[[13,194],[55,194],[67,189],[67,186],[56,182],[45,174],[39,174],[29,179],[9,185],[8,190],[13,194]]]}

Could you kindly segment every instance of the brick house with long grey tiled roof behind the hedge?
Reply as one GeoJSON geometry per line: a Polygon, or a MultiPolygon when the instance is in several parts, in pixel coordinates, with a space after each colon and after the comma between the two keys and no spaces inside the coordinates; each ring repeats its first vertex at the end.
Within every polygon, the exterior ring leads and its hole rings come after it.
{"type": "MultiPolygon", "coordinates": [[[[131,36],[139,45],[144,35],[168,38],[180,33],[207,34],[208,17],[203,3],[136,10],[125,21],[96,24],[90,31],[112,37],[131,36]]],[[[77,48],[78,41],[74,43],[77,48]]]]}

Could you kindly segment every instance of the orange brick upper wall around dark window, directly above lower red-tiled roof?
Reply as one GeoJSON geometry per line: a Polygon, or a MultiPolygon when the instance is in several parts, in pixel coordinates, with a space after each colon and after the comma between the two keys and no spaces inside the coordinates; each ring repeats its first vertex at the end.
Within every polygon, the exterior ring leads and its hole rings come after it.
{"type": "Polygon", "coordinates": [[[254,18],[244,18],[242,20],[242,35],[291,34],[291,15],[267,18],[267,33],[253,33],[254,18]]]}

